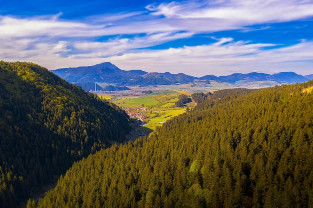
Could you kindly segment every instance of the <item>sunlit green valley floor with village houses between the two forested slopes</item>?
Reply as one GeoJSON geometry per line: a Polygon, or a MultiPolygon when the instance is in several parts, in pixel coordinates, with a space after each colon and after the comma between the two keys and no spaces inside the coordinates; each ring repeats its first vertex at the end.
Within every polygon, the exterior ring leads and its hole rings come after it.
{"type": "Polygon", "coordinates": [[[145,94],[142,93],[144,90],[145,89],[142,89],[140,93],[138,91],[136,91],[136,93],[127,91],[118,94],[114,94],[113,92],[109,94],[97,93],[99,98],[106,99],[119,106],[135,124],[140,126],[137,128],[135,138],[147,136],[167,120],[186,112],[187,108],[192,109],[195,105],[194,102],[190,100],[190,102],[185,103],[184,106],[175,106],[179,95],[191,95],[191,93],[185,91],[157,89],[150,91],[151,93],[149,94],[145,94]]]}

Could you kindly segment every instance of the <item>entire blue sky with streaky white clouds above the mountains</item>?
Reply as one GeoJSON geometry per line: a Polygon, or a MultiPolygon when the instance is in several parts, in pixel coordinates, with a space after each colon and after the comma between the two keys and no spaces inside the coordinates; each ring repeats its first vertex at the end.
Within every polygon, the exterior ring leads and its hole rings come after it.
{"type": "Polygon", "coordinates": [[[196,77],[313,74],[313,0],[10,0],[0,60],[196,77]]]}

